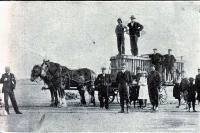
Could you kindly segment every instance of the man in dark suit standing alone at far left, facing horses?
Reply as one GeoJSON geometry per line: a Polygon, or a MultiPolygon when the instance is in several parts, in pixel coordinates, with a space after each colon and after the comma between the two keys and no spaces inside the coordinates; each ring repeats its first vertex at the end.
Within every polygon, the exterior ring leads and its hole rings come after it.
{"type": "Polygon", "coordinates": [[[17,106],[17,102],[15,100],[14,89],[16,86],[16,80],[14,74],[10,73],[10,67],[5,67],[5,74],[2,75],[0,79],[0,83],[3,83],[2,92],[4,93],[4,102],[5,102],[5,110],[8,114],[9,112],[9,105],[8,105],[8,97],[10,97],[11,103],[15,110],[16,114],[22,114],[17,106]]]}

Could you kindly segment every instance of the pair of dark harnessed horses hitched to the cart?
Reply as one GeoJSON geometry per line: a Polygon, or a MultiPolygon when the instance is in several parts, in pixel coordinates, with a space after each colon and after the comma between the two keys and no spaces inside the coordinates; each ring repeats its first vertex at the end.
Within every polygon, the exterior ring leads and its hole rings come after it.
{"type": "Polygon", "coordinates": [[[58,104],[58,96],[64,97],[64,90],[77,87],[81,104],[86,104],[85,88],[87,88],[88,93],[91,95],[91,103],[95,106],[94,80],[96,75],[92,70],[88,68],[70,70],[58,63],[43,61],[41,65],[35,65],[32,69],[31,81],[35,81],[38,77],[47,84],[54,105],[58,104]]]}

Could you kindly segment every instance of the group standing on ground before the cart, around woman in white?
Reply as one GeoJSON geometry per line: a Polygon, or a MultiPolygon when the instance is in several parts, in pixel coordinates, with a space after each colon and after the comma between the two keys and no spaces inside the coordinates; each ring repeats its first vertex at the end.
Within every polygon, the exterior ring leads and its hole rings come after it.
{"type": "MultiPolygon", "coordinates": [[[[151,71],[148,75],[145,71],[141,71],[140,67],[137,68],[136,75],[131,75],[126,70],[126,64],[122,64],[121,71],[117,73],[116,77],[121,106],[119,113],[125,112],[125,105],[128,112],[129,103],[132,101],[135,107],[138,100],[140,108],[142,108],[143,105],[146,106],[147,99],[150,99],[152,109],[158,110],[160,82],[160,74],[155,70],[154,65],[151,66],[151,71]]],[[[98,86],[100,107],[109,109],[108,93],[111,79],[110,75],[105,73],[105,68],[102,68],[102,74],[98,75],[95,84],[98,86]]]]}

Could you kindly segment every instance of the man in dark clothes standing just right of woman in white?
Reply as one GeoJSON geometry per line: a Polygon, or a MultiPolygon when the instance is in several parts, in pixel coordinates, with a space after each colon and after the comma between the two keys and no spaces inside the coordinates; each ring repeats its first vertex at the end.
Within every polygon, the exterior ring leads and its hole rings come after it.
{"type": "Polygon", "coordinates": [[[159,72],[155,70],[155,66],[151,66],[151,71],[148,74],[147,77],[147,84],[148,84],[148,90],[149,90],[149,99],[152,104],[152,109],[153,110],[158,110],[158,92],[160,88],[160,83],[161,83],[161,77],[159,72]]]}

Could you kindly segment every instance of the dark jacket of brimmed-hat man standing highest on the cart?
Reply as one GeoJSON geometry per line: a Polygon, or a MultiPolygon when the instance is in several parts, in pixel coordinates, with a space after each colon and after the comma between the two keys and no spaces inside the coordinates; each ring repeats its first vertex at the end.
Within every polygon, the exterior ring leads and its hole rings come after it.
{"type": "Polygon", "coordinates": [[[134,22],[133,26],[131,25],[131,23],[128,23],[127,26],[129,27],[130,36],[137,35],[138,37],[140,37],[140,31],[143,29],[143,25],[138,22],[134,22]]]}

